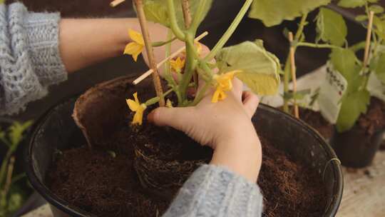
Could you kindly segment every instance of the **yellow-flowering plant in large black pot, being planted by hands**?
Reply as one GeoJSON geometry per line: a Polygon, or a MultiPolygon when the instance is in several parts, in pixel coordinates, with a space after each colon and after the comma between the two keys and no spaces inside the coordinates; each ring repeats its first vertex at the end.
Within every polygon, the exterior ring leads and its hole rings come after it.
{"type": "MultiPolygon", "coordinates": [[[[195,34],[211,1],[134,3],[143,34],[129,31],[133,42],[126,46],[125,54],[136,59],[146,49],[155,90],[149,81],[134,86],[132,78],[118,78],[59,104],[39,121],[26,151],[26,169],[55,216],[160,215],[190,173],[210,160],[211,151],[179,131],[150,125],[145,114],[155,104],[195,106],[209,88],[215,89],[212,103],[217,103],[225,99],[235,77],[258,94],[277,91],[279,61],[263,48],[262,41],[223,48],[252,0],[245,1],[229,29],[203,57],[195,34]],[[168,26],[168,39],[151,42],[146,19],[168,26]],[[168,58],[167,85],[162,85],[152,46],[168,46],[175,39],[185,41],[185,58],[168,58]],[[215,68],[218,74],[213,73],[215,68]],[[205,81],[200,90],[195,74],[205,81]],[[163,91],[165,86],[168,91],[163,91]],[[189,95],[188,89],[195,89],[196,94],[189,95]],[[88,146],[81,146],[84,143],[88,146]]],[[[170,49],[166,50],[169,54],[170,49]]],[[[269,201],[281,199],[282,204],[289,204],[277,207],[270,203],[267,213],[334,216],[342,196],[342,175],[333,151],[294,118],[268,106],[261,106],[258,112],[253,121],[270,153],[265,155],[260,185],[263,191],[272,191],[274,196],[266,195],[269,201]],[[282,128],[279,136],[274,133],[278,128],[282,128]],[[277,158],[282,166],[272,163],[277,158]],[[279,175],[286,170],[290,176],[279,175]],[[294,185],[287,186],[288,182],[294,185]],[[288,188],[298,194],[287,194],[288,188]],[[299,201],[304,193],[312,196],[299,201]]]]}

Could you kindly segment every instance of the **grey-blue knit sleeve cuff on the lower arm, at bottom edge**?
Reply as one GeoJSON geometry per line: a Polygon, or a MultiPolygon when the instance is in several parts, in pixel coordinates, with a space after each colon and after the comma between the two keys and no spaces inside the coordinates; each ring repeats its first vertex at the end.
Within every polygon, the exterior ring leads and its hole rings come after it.
{"type": "Polygon", "coordinates": [[[163,217],[256,217],[262,215],[256,183],[221,166],[204,165],[180,189],[163,217]]]}

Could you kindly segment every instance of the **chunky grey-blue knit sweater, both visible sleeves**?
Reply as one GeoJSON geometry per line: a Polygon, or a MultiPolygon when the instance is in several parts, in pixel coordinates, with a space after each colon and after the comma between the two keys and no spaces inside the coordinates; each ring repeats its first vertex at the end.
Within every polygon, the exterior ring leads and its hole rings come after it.
{"type": "MultiPolygon", "coordinates": [[[[17,113],[67,79],[58,49],[59,14],[29,13],[0,4],[0,113],[17,113]]],[[[260,216],[255,183],[220,166],[205,165],[180,189],[164,216],[260,216]]]]}

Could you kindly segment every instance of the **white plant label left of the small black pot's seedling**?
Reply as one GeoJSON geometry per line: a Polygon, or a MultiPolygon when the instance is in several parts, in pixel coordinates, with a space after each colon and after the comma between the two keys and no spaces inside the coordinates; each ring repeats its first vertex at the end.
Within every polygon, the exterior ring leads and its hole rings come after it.
{"type": "Polygon", "coordinates": [[[327,74],[319,89],[319,111],[329,123],[336,123],[341,110],[341,99],[347,91],[347,79],[327,63],[327,74]]]}

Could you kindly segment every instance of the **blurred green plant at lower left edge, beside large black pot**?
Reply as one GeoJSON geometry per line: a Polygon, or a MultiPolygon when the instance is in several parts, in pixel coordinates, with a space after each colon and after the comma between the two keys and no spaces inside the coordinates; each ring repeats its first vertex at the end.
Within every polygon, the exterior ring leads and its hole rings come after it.
{"type": "MultiPolygon", "coordinates": [[[[19,123],[17,121],[1,120],[0,145],[0,216],[12,216],[21,208],[28,193],[26,193],[26,176],[24,173],[16,173],[17,148],[24,140],[26,129],[31,126],[31,121],[19,123]],[[3,153],[4,150],[4,153],[3,153]]],[[[19,160],[21,161],[21,160],[19,160]]]]}

